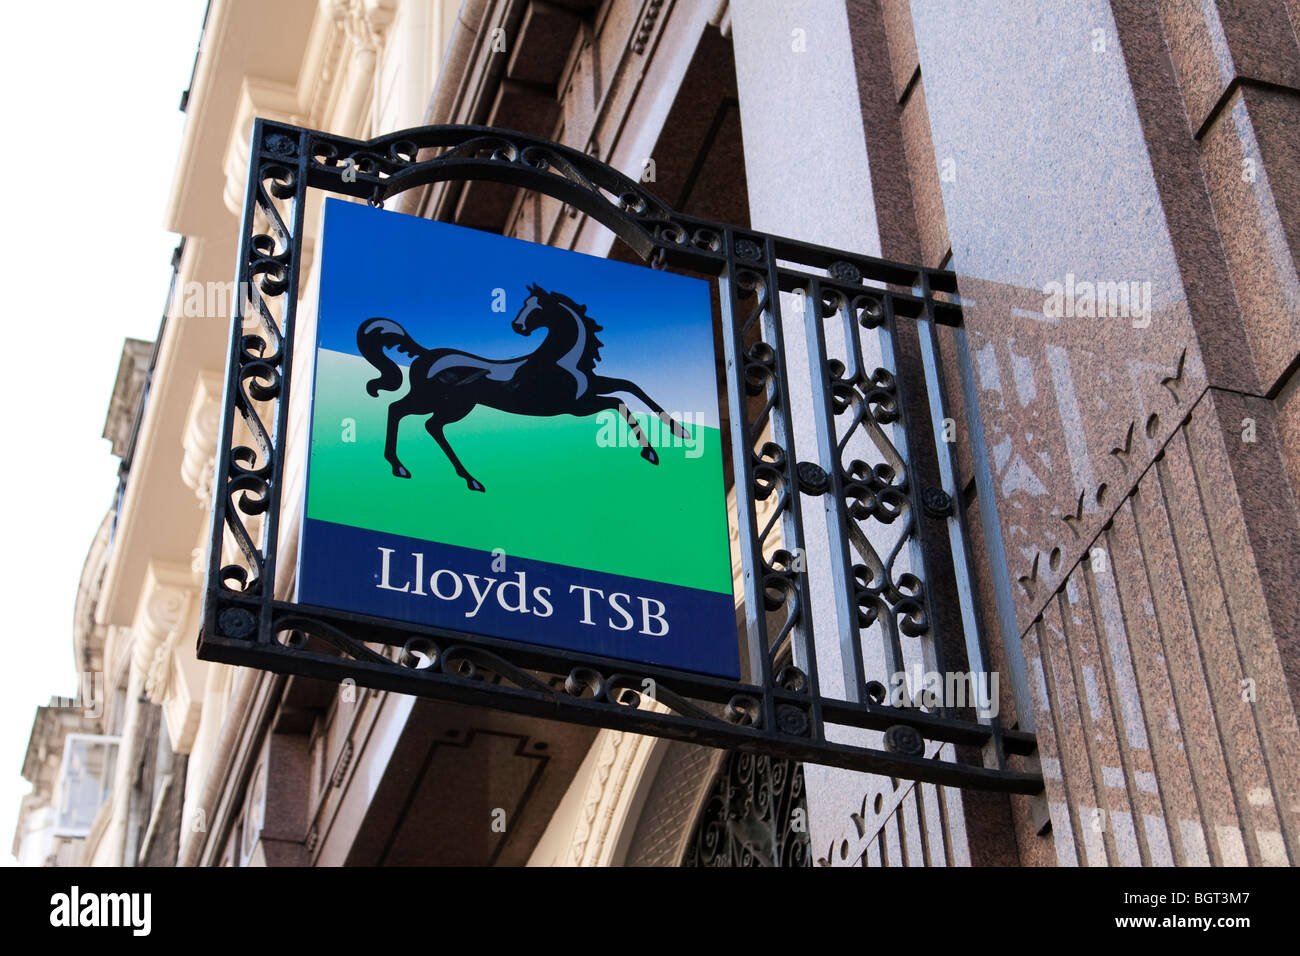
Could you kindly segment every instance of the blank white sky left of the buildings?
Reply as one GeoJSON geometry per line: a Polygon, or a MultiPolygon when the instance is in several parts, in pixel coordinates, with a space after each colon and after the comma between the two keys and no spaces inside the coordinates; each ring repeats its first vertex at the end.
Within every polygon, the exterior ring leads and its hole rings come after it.
{"type": "Polygon", "coordinates": [[[117,489],[100,434],[122,339],[152,341],[165,306],[178,237],[162,213],[204,5],[5,5],[0,580],[17,671],[0,693],[3,864],[30,791],[20,773],[35,708],[77,692],[73,602],[117,489]]]}

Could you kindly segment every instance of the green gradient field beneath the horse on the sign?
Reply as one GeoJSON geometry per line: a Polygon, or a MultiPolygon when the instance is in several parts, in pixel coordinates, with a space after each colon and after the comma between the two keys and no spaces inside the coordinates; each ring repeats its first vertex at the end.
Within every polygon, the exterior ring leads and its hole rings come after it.
{"type": "Polygon", "coordinates": [[[694,447],[686,447],[638,412],[658,438],[653,466],[621,423],[614,432],[594,415],[528,418],[480,406],[446,428],[486,488],[471,492],[420,415],[406,418],[398,433],[411,477],[393,475],[384,437],[389,403],[404,385],[370,398],[365,382],[376,371],[368,362],[324,349],[316,362],[308,518],[731,593],[716,428],[689,424],[694,447]],[[616,445],[602,446],[610,438],[616,445]]]}

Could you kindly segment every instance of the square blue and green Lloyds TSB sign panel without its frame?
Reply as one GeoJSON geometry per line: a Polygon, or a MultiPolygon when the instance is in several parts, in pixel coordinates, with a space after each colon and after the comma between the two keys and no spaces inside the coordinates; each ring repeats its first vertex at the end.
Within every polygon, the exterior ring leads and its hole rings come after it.
{"type": "Polygon", "coordinates": [[[330,199],[298,601],[738,678],[708,286],[330,199]]]}

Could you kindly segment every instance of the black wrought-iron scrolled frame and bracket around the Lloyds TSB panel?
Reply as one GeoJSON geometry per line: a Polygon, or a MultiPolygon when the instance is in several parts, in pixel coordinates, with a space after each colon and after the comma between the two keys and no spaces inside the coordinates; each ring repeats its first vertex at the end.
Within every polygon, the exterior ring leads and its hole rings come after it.
{"type": "MultiPolygon", "coordinates": [[[[916,640],[944,670],[931,591],[936,525],[946,525],[967,666],[987,671],[972,604],[950,446],[936,441],[942,488],[918,488],[906,398],[896,377],[900,319],[916,323],[933,432],[946,418],[935,325],[959,326],[954,278],[673,212],[640,183],[567,147],[480,126],[429,126],[368,142],[257,120],[250,148],[239,294],[217,451],[199,657],[452,700],[731,750],[979,790],[1036,793],[1013,770],[1034,737],[944,706],[890,706],[867,679],[864,635],[885,661],[916,640]],[[281,498],[299,263],[308,190],[382,204],[441,181],[488,179],[554,196],[602,222],[655,268],[718,276],[731,441],[744,559],[749,680],[732,682],[567,650],[308,607],[276,600],[281,498]],[[818,462],[800,462],[777,291],[801,290],[816,407],[818,462]],[[945,293],[948,295],[945,295],[945,293]],[[828,354],[828,323],[842,355],[828,354]],[[863,359],[861,330],[881,342],[863,359]],[[240,431],[237,441],[235,429],[240,431]],[[867,436],[884,462],[845,462],[867,436]],[[822,696],[812,641],[802,498],[827,512],[845,696],[822,696]],[[762,512],[767,512],[760,514],[762,512]],[[890,525],[885,555],[867,537],[890,525]],[[927,527],[928,525],[928,527],[927,527]],[[926,536],[930,536],[926,540],[926,536]],[[926,548],[922,548],[922,544],[926,548]],[[896,561],[910,555],[910,570],[896,561]],[[861,558],[854,561],[854,554],[861,558]],[[762,610],[759,610],[762,609],[762,610]],[[377,649],[378,648],[378,649],[377,649]],[[400,650],[394,650],[400,649],[400,650]],[[649,683],[649,682],[653,682],[649,683]],[[655,705],[645,688],[654,688],[655,705]],[[837,743],[827,728],[883,731],[883,748],[837,743]],[[979,747],[987,766],[926,756],[926,741],[979,747]]],[[[942,550],[940,548],[940,550],[942,550]]],[[[835,735],[835,732],[832,732],[835,735]]],[[[840,735],[842,739],[842,735],[840,735]]],[[[861,737],[861,734],[859,734],[861,737]]],[[[931,748],[931,752],[933,748],[931,748]]]]}

